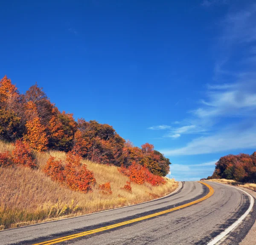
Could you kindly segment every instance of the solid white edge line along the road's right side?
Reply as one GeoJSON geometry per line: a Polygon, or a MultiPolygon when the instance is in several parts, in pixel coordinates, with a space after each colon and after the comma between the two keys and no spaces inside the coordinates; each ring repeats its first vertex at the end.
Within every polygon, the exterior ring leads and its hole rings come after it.
{"type": "MultiPolygon", "coordinates": [[[[214,183],[216,183],[216,182],[214,182],[214,183]]],[[[221,183],[218,183],[218,184],[221,184],[221,183]]],[[[221,184],[221,185],[224,185],[224,184],[221,184]]],[[[236,188],[234,186],[230,186],[230,187],[236,188]]],[[[249,208],[247,209],[247,211],[235,223],[230,225],[225,231],[221,232],[221,234],[219,234],[213,240],[211,240],[209,243],[207,243],[207,245],[214,245],[214,244],[216,244],[224,236],[226,236],[228,233],[230,233],[230,231],[232,231],[234,228],[236,228],[236,226],[239,225],[243,221],[243,219],[247,216],[247,214],[249,214],[250,211],[252,210],[253,204],[254,204],[253,197],[249,193],[247,193],[246,191],[244,191],[242,189],[239,189],[239,188],[236,188],[236,189],[238,189],[240,191],[243,191],[245,194],[247,194],[250,197],[250,206],[249,206],[249,208]]]]}

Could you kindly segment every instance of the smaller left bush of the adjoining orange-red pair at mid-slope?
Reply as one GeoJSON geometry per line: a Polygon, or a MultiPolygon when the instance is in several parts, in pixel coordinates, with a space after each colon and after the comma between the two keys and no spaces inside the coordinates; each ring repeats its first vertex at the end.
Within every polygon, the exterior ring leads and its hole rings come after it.
{"type": "Polygon", "coordinates": [[[61,160],[55,160],[55,157],[50,156],[45,167],[44,173],[51,177],[52,180],[63,182],[65,180],[64,176],[64,166],[61,160]]]}

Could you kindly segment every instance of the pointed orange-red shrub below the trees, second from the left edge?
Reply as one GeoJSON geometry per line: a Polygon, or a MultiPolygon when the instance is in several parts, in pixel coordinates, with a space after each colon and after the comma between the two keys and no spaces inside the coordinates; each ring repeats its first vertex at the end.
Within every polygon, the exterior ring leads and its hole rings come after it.
{"type": "Polygon", "coordinates": [[[12,159],[14,164],[17,165],[22,165],[29,168],[37,167],[29,145],[22,140],[16,140],[15,148],[12,151],[12,159]]]}

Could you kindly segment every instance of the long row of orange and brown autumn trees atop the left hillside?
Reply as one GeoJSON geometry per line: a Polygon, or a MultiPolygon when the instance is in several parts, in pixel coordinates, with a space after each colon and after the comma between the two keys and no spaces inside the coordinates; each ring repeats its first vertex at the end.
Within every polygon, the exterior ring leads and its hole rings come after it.
{"type": "Polygon", "coordinates": [[[37,83],[21,94],[4,76],[0,80],[0,140],[22,140],[35,151],[74,152],[102,164],[129,168],[141,165],[151,174],[166,176],[170,161],[154,145],[141,148],[125,141],[111,125],[74,119],[59,111],[37,83]]]}

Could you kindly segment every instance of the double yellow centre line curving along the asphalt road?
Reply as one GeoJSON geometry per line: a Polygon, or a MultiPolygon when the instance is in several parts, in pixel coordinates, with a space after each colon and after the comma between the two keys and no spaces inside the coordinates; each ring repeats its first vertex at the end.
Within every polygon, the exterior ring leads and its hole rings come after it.
{"type": "Polygon", "coordinates": [[[75,239],[75,238],[78,238],[78,237],[81,237],[81,236],[87,236],[87,235],[90,235],[90,234],[94,234],[94,233],[98,233],[98,232],[102,232],[102,231],[107,231],[107,230],[110,230],[110,229],[113,229],[113,228],[116,228],[116,227],[119,227],[119,226],[128,225],[128,224],[138,222],[138,221],[141,221],[141,220],[144,220],[144,219],[150,219],[152,217],[156,217],[156,216],[159,216],[159,215],[162,215],[162,214],[167,214],[167,213],[170,213],[172,211],[175,211],[175,210],[178,210],[178,209],[181,209],[181,208],[186,208],[186,207],[188,207],[190,205],[193,205],[195,203],[202,202],[205,199],[212,196],[212,194],[214,192],[213,188],[210,185],[208,185],[207,183],[204,183],[204,182],[200,182],[200,183],[203,184],[203,185],[206,185],[209,188],[209,193],[206,196],[204,196],[200,199],[197,199],[193,202],[189,202],[187,204],[180,205],[176,208],[171,208],[171,209],[168,209],[168,210],[165,210],[165,211],[157,212],[155,214],[150,214],[150,215],[143,216],[143,217],[140,217],[140,218],[137,218],[137,219],[131,219],[131,220],[128,220],[128,221],[125,221],[125,222],[117,223],[115,225],[108,225],[108,226],[101,227],[101,228],[98,228],[98,229],[94,229],[94,230],[91,230],[91,231],[84,231],[84,232],[73,234],[73,235],[70,235],[70,236],[63,236],[63,237],[48,240],[48,241],[45,241],[45,242],[36,243],[34,245],[50,245],[50,244],[55,244],[55,243],[58,243],[58,242],[64,242],[64,241],[75,239]]]}

